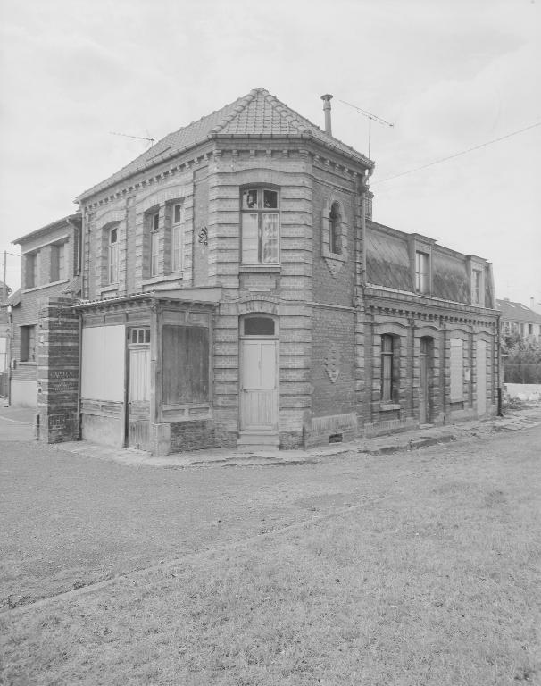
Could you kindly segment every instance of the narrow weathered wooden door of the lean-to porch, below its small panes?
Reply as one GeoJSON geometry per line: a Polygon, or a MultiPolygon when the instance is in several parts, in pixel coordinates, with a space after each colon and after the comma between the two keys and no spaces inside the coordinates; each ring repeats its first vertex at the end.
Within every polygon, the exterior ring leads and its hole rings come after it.
{"type": "Polygon", "coordinates": [[[146,450],[150,439],[150,346],[129,346],[128,445],[146,450]]]}

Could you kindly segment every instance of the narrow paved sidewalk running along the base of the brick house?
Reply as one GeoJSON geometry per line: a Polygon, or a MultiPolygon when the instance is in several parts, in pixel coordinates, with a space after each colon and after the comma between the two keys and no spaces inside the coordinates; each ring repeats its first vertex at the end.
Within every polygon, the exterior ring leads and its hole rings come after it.
{"type": "Polygon", "coordinates": [[[515,412],[504,417],[474,420],[445,426],[433,426],[402,433],[379,436],[370,439],[357,439],[349,443],[335,443],[329,446],[308,450],[258,450],[250,453],[229,448],[194,450],[154,457],[144,450],[134,448],[110,448],[89,443],[86,440],[58,444],[58,448],[79,456],[110,460],[125,465],[146,465],[182,469],[186,467],[239,467],[239,466],[277,466],[286,464],[314,464],[325,458],[345,453],[365,453],[386,455],[399,450],[412,450],[465,438],[479,436],[487,431],[517,431],[528,429],[541,423],[541,407],[515,412]]]}

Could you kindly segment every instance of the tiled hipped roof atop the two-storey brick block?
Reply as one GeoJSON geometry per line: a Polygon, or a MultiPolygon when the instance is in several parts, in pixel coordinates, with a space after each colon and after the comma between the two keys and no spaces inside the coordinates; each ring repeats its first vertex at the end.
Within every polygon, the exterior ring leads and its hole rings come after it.
{"type": "Polygon", "coordinates": [[[320,130],[311,121],[281,103],[269,91],[264,88],[255,88],[247,96],[239,97],[235,102],[222,107],[221,110],[207,114],[202,119],[193,121],[183,129],[162,138],[120,171],[81,193],[78,199],[94,195],[122,179],[127,179],[137,171],[162,163],[212,138],[221,136],[299,137],[302,135],[312,137],[323,145],[334,148],[337,152],[354,157],[367,166],[373,166],[368,157],[320,130]]]}

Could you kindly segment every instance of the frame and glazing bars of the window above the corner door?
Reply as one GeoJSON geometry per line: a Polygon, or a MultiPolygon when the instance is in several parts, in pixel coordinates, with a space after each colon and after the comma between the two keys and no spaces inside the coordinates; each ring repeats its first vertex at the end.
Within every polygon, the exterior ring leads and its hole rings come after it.
{"type": "Polygon", "coordinates": [[[278,186],[273,184],[246,184],[241,186],[239,189],[239,213],[240,213],[240,264],[246,266],[261,266],[261,267],[275,267],[280,264],[280,228],[281,228],[281,204],[280,204],[280,189],[278,186]],[[257,206],[256,207],[244,207],[244,197],[250,191],[255,191],[257,193],[257,206]],[[276,207],[265,207],[264,197],[265,191],[276,194],[276,207]],[[245,217],[248,215],[257,216],[257,261],[248,261],[245,258],[247,250],[245,250],[246,245],[246,233],[247,224],[245,223],[245,217]],[[268,240],[268,245],[271,246],[273,241],[276,240],[276,260],[274,261],[264,261],[265,252],[265,216],[276,215],[276,236],[272,236],[268,240]],[[246,227],[246,228],[245,228],[246,227]]]}

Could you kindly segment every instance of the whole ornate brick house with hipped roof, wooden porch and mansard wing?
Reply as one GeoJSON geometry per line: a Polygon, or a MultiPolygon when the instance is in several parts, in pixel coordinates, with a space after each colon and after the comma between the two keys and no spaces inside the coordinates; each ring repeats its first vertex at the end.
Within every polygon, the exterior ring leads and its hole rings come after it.
{"type": "Polygon", "coordinates": [[[490,264],[372,220],[330,97],[320,130],[256,88],[79,195],[81,295],[39,321],[43,439],[299,448],[495,413],[490,264]]]}

